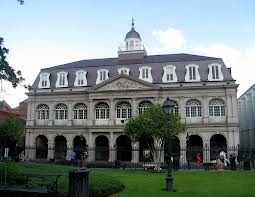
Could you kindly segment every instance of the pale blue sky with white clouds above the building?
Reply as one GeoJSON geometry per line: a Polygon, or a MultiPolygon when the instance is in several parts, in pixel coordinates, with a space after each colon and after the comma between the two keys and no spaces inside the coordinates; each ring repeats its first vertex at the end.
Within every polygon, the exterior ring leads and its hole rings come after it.
{"type": "MultiPolygon", "coordinates": [[[[240,96],[255,83],[254,8],[254,0],[0,0],[0,37],[10,65],[32,85],[42,68],[117,57],[134,17],[148,55],[220,57],[240,96]]],[[[0,100],[15,107],[25,92],[3,82],[0,100]]]]}

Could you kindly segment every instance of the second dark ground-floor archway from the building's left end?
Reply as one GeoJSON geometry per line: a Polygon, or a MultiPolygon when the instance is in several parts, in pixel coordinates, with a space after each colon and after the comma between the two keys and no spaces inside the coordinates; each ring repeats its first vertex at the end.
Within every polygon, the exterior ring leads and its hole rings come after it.
{"type": "Polygon", "coordinates": [[[64,136],[55,137],[55,154],[54,158],[56,160],[63,160],[66,156],[66,138],[64,136]]]}

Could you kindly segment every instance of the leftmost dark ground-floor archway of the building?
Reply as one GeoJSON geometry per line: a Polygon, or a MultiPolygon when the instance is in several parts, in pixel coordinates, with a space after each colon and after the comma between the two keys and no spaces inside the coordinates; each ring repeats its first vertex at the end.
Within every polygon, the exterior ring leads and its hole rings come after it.
{"type": "Polygon", "coordinates": [[[47,159],[48,139],[44,135],[39,135],[35,139],[36,159],[47,159]]]}

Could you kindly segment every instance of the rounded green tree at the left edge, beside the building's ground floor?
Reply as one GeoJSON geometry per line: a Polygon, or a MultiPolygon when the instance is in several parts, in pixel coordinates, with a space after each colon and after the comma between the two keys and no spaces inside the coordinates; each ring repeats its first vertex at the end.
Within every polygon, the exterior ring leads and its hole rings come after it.
{"type": "Polygon", "coordinates": [[[24,126],[16,117],[7,117],[0,121],[0,137],[19,140],[24,136],[24,126]]]}

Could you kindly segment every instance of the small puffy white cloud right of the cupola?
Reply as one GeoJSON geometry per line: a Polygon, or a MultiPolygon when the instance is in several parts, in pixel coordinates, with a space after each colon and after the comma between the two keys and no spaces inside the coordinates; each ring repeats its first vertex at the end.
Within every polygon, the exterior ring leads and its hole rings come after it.
{"type": "Polygon", "coordinates": [[[159,42],[158,47],[161,49],[167,50],[180,49],[186,43],[183,32],[173,27],[169,27],[165,31],[164,30],[153,31],[152,35],[159,42]]]}

